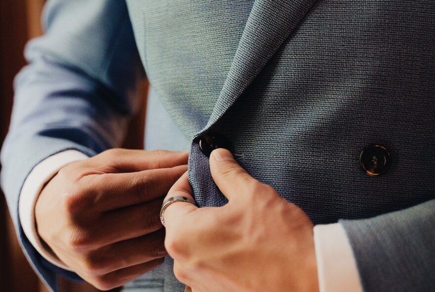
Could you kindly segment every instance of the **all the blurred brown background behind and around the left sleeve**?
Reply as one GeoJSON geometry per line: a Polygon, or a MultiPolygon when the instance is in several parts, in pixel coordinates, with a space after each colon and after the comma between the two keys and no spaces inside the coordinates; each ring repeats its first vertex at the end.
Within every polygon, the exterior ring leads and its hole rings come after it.
{"type": "MultiPolygon", "coordinates": [[[[26,42],[42,34],[41,12],[44,0],[0,0],[0,146],[7,134],[13,103],[12,82],[26,64],[23,49],[26,42]]],[[[140,98],[146,104],[147,84],[140,98]]],[[[131,120],[124,143],[126,148],[143,149],[145,106],[131,120]]],[[[0,166],[1,167],[1,166],[0,166]]],[[[0,168],[1,169],[1,168],[0,168]]],[[[86,283],[60,279],[62,292],[96,292],[86,283]]],[[[6,202],[0,191],[0,291],[47,292],[28,264],[15,236],[6,202]]],[[[118,291],[118,290],[113,290],[118,291]]]]}

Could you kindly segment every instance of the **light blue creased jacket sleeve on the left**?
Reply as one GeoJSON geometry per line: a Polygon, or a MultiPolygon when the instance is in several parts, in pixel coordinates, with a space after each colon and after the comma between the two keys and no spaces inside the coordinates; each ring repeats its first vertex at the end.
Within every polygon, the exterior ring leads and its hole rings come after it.
{"type": "Polygon", "coordinates": [[[119,146],[144,72],[125,1],[50,0],[43,18],[45,34],[27,45],[29,64],[15,79],[1,186],[25,254],[56,291],[57,275],[79,278],[44,260],[24,235],[18,216],[23,182],[55,153],[92,156],[119,146]]]}

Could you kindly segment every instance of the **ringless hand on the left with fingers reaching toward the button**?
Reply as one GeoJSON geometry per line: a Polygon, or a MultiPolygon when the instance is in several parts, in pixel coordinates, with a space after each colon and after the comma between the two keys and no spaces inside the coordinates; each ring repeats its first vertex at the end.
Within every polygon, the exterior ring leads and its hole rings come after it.
{"type": "Polygon", "coordinates": [[[187,157],[187,152],[111,149],[68,164],[36,203],[40,237],[98,289],[137,278],[167,254],[160,206],[187,170],[187,157]]]}

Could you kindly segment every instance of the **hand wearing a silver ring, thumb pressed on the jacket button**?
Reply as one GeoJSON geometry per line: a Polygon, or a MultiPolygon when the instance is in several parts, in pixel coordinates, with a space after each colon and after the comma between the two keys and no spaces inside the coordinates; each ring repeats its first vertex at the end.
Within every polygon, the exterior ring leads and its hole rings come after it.
{"type": "MultiPolygon", "coordinates": [[[[318,291],[313,224],[304,211],[251,177],[228,150],[212,152],[210,169],[226,205],[175,202],[164,213],[178,280],[194,292],[318,291]]],[[[186,174],[167,198],[175,195],[192,198],[186,174]]]]}

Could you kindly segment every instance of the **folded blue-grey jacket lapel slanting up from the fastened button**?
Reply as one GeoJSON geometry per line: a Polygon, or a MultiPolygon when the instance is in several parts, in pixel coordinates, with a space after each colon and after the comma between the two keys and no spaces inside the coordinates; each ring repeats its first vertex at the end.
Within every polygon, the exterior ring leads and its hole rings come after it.
{"type": "Polygon", "coordinates": [[[255,0],[228,75],[205,128],[206,132],[288,38],[315,0],[255,0]]]}

